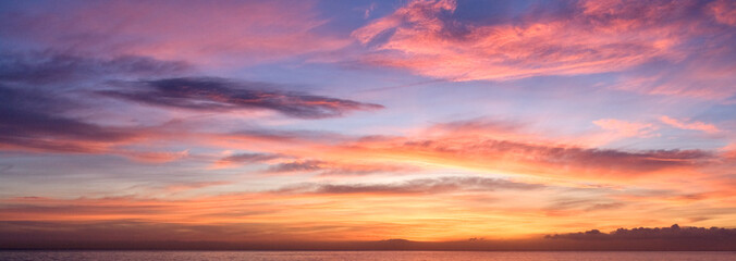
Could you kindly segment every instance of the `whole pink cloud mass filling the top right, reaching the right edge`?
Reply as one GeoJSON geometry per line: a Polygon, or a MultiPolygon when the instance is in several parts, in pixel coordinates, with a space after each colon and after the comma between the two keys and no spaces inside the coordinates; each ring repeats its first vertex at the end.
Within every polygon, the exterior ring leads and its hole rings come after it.
{"type": "Polygon", "coordinates": [[[447,80],[615,73],[613,88],[640,94],[736,94],[729,1],[553,1],[520,13],[498,5],[409,1],[352,36],[371,50],[364,63],[447,80]]]}

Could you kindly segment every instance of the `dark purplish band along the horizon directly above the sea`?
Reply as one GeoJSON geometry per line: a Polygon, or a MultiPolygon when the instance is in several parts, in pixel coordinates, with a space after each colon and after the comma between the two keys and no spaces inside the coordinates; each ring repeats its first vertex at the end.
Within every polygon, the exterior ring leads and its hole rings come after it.
{"type": "Polygon", "coordinates": [[[114,240],[82,238],[73,234],[47,237],[42,232],[0,234],[3,250],[445,250],[445,251],[515,251],[515,250],[650,250],[650,251],[736,251],[736,229],[721,227],[638,227],[618,228],[611,233],[598,229],[552,234],[529,239],[469,238],[455,241],[413,241],[385,239],[378,241],[179,241],[145,240],[143,238],[114,240]]]}

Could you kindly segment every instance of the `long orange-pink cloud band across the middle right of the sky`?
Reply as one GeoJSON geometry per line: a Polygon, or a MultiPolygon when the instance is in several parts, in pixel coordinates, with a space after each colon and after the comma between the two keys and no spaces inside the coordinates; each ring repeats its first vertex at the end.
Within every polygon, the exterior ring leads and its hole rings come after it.
{"type": "Polygon", "coordinates": [[[487,119],[432,124],[405,136],[261,136],[256,132],[212,137],[226,148],[287,153],[295,160],[273,162],[265,173],[361,175],[412,173],[442,167],[482,173],[585,181],[631,181],[655,176],[698,175],[719,167],[721,154],[698,149],[622,150],[581,147],[574,138],[545,137],[523,124],[487,119]],[[473,121],[478,121],[473,123],[473,121]],[[341,174],[342,173],[342,174],[341,174]]]}

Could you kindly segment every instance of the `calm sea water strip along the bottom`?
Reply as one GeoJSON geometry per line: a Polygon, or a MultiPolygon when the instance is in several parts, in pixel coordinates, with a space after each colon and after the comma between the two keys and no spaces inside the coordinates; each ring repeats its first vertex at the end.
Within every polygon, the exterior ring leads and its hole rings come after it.
{"type": "Polygon", "coordinates": [[[736,260],[736,252],[443,252],[443,251],[0,251],[0,260],[736,260]]]}

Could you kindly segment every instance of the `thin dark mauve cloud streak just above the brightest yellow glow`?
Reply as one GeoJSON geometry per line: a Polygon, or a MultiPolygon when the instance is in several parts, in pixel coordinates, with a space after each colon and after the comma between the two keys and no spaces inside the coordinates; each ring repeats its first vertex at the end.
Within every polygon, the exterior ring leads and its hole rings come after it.
{"type": "Polygon", "coordinates": [[[282,188],[280,192],[312,194],[441,194],[453,191],[493,191],[499,189],[531,190],[543,188],[540,184],[516,183],[486,177],[440,177],[410,179],[397,184],[303,184],[282,188]]]}

